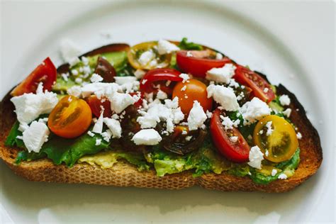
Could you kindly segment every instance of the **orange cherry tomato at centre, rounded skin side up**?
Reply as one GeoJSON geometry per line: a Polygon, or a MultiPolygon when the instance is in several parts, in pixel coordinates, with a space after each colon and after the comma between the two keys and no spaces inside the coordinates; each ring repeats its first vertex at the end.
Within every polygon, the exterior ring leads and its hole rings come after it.
{"type": "Polygon", "coordinates": [[[208,98],[206,84],[197,79],[189,79],[187,82],[178,82],[173,90],[173,99],[179,98],[179,106],[184,114],[189,114],[194,101],[198,101],[204,111],[211,111],[213,100],[208,98]]]}

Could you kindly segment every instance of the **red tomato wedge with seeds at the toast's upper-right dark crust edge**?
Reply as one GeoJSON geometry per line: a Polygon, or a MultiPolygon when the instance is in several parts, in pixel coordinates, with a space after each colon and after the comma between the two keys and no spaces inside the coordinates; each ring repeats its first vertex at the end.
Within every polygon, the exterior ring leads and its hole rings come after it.
{"type": "Polygon", "coordinates": [[[237,65],[235,76],[237,82],[252,89],[252,94],[265,102],[270,102],[275,99],[274,91],[271,85],[256,72],[251,71],[247,67],[237,65]]]}

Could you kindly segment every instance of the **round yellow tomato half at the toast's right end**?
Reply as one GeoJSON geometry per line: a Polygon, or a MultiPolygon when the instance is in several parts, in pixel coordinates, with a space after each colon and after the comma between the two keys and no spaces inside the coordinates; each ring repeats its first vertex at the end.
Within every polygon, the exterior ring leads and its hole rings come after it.
{"type": "Polygon", "coordinates": [[[271,162],[291,159],[298,148],[298,138],[293,126],[284,118],[276,115],[264,117],[257,123],[253,141],[262,150],[264,157],[271,162]],[[269,122],[271,122],[272,131],[267,135],[269,129],[267,123],[269,122]]]}

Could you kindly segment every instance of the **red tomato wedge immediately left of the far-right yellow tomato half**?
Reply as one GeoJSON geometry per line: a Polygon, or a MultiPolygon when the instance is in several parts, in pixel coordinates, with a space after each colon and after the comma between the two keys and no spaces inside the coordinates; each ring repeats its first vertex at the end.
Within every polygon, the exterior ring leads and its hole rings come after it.
{"type": "Polygon", "coordinates": [[[233,127],[233,135],[238,137],[237,142],[232,142],[228,131],[220,121],[220,110],[216,109],[210,121],[210,132],[213,143],[218,151],[233,162],[247,162],[249,160],[250,146],[240,134],[237,128],[233,127]]]}

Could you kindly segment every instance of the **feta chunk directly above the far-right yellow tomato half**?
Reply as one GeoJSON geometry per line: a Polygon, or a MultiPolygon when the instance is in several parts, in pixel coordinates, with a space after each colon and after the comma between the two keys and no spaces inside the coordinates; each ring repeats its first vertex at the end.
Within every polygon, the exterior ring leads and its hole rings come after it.
{"type": "Polygon", "coordinates": [[[264,116],[271,114],[271,109],[264,101],[257,97],[254,97],[252,101],[246,102],[240,108],[240,113],[244,118],[244,125],[250,125],[256,121],[259,121],[264,116]]]}

